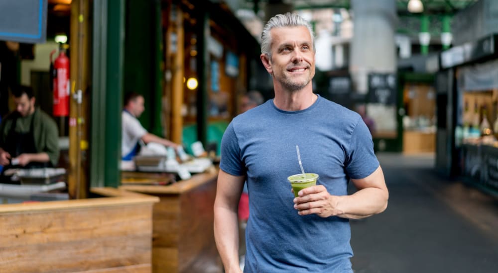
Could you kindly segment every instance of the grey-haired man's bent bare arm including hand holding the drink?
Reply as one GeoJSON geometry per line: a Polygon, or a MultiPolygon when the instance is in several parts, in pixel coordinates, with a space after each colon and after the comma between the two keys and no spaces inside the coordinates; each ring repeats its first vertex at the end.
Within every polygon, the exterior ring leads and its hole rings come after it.
{"type": "Polygon", "coordinates": [[[294,208],[299,210],[299,215],[318,214],[321,217],[350,219],[369,217],[385,210],[389,193],[380,166],[366,178],[351,181],[358,191],[347,196],[330,195],[322,185],[303,189],[294,199],[294,208]]]}

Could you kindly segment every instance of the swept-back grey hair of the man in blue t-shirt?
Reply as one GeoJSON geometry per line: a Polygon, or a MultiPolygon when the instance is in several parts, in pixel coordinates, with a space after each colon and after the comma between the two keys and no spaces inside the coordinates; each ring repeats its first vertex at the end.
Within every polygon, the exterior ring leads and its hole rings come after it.
{"type": "Polygon", "coordinates": [[[294,26],[305,26],[308,28],[311,35],[311,44],[313,45],[313,51],[315,51],[315,33],[310,23],[303,19],[303,17],[287,12],[285,14],[277,14],[271,17],[268,22],[264,25],[263,31],[261,32],[261,53],[268,56],[271,59],[271,35],[270,30],[274,27],[294,27],[294,26]]]}

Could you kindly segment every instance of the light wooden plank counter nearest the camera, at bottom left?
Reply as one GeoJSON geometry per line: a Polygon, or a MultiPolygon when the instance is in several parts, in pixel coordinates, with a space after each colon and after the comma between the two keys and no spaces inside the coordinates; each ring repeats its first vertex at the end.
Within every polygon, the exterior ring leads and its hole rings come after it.
{"type": "Polygon", "coordinates": [[[151,272],[156,197],[113,188],[102,198],[0,205],[0,272],[151,272]]]}

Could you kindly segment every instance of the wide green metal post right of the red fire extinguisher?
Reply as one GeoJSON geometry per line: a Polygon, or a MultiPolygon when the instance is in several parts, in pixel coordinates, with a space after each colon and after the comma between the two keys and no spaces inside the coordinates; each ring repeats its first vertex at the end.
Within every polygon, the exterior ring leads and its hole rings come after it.
{"type": "Polygon", "coordinates": [[[92,187],[121,183],[124,0],[94,1],[90,179],[92,187]],[[109,8],[112,7],[112,8],[109,8]]]}

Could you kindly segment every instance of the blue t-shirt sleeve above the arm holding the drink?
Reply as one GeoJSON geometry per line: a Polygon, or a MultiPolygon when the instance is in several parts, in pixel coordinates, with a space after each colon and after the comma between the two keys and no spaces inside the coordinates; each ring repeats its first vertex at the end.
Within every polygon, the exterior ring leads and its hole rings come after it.
{"type": "Polygon", "coordinates": [[[346,151],[346,173],[350,178],[365,178],[379,166],[377,157],[373,153],[372,135],[361,117],[353,130],[346,151]]]}

